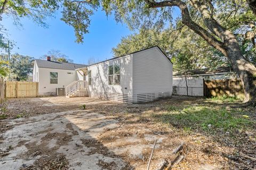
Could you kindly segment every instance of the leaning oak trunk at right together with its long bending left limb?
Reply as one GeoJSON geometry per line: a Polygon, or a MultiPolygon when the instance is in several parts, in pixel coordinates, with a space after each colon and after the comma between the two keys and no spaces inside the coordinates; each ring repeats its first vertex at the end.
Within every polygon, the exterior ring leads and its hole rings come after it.
{"type": "MultiPolygon", "coordinates": [[[[188,28],[201,36],[209,45],[219,50],[230,60],[233,70],[242,81],[245,95],[244,101],[248,104],[256,103],[256,67],[245,60],[234,34],[213,19],[211,12],[202,1],[189,0],[190,4],[202,14],[204,24],[210,32],[191,20],[188,6],[185,2],[180,0],[162,2],[145,0],[145,2],[149,4],[149,7],[179,7],[181,10],[182,23],[187,25],[188,28]],[[215,36],[213,36],[212,33],[215,36]],[[218,39],[216,37],[218,37],[218,39]]],[[[256,0],[247,0],[247,2],[249,2],[252,7],[255,5],[256,0]]]]}

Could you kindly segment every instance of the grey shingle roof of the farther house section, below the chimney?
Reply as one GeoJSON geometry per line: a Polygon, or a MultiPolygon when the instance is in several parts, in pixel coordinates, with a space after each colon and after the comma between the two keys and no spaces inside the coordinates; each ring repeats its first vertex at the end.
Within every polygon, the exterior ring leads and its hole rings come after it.
{"type": "Polygon", "coordinates": [[[36,59],[35,61],[38,67],[49,68],[49,69],[76,70],[78,68],[86,66],[83,64],[62,63],[62,62],[39,60],[39,59],[36,59]]]}

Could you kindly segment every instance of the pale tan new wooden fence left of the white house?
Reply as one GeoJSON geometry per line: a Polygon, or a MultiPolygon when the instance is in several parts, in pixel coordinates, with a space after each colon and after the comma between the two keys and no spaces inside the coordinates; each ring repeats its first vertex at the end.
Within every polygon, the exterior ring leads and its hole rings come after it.
{"type": "Polygon", "coordinates": [[[7,81],[5,83],[6,98],[37,97],[38,82],[7,81]]]}

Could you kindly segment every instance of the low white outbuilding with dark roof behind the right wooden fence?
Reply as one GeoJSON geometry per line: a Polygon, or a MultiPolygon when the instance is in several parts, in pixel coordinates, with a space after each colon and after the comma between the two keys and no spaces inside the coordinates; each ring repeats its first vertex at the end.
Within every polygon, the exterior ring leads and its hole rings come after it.
{"type": "Polygon", "coordinates": [[[189,96],[204,96],[203,80],[220,80],[231,79],[236,77],[236,74],[230,67],[218,67],[215,70],[196,69],[189,71],[189,76],[186,77],[179,72],[173,73],[173,94],[189,96]]]}

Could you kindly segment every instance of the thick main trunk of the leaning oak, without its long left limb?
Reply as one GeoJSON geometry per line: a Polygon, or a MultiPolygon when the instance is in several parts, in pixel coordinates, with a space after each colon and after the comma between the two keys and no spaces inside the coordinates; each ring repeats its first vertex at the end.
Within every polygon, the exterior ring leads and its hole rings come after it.
{"type": "MultiPolygon", "coordinates": [[[[256,2],[256,0],[255,0],[256,2]]],[[[192,6],[194,6],[203,15],[203,21],[206,27],[214,33],[215,36],[222,40],[222,44],[216,46],[214,42],[209,41],[208,43],[216,48],[223,55],[225,55],[231,62],[233,70],[238,74],[242,81],[244,89],[244,101],[248,104],[256,103],[256,67],[245,60],[242,54],[242,50],[238,44],[238,41],[233,32],[222,27],[210,14],[210,12],[205,8],[205,5],[197,0],[190,0],[192,6]]],[[[193,25],[194,26],[194,25],[193,25]]],[[[191,26],[190,26],[191,27],[191,26]]],[[[196,32],[197,30],[194,29],[196,32]]]]}

